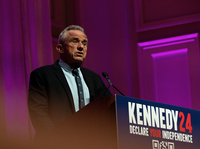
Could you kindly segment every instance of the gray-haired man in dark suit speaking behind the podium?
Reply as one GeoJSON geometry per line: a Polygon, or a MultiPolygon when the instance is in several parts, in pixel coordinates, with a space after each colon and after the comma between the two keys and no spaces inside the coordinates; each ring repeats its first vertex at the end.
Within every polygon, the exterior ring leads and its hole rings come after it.
{"type": "MultiPolygon", "coordinates": [[[[43,66],[30,75],[28,107],[36,137],[80,110],[80,92],[74,70],[81,80],[84,105],[98,98],[106,90],[100,76],[81,67],[87,54],[88,39],[80,26],[69,26],[60,33],[57,51],[60,60],[43,66]]],[[[79,84],[80,85],[80,84],[79,84]]],[[[102,96],[111,95],[106,90],[102,96]]]]}

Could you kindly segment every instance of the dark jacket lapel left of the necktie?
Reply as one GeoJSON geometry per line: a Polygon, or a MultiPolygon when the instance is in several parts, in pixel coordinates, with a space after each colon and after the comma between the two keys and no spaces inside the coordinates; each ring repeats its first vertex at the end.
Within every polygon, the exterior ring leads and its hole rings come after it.
{"type": "Polygon", "coordinates": [[[67,83],[67,80],[65,78],[65,75],[62,72],[62,69],[60,68],[60,65],[58,64],[59,61],[56,61],[53,66],[54,66],[54,73],[57,76],[58,80],[60,81],[60,83],[62,84],[63,88],[65,89],[66,93],[67,93],[67,97],[72,105],[72,109],[75,112],[75,106],[74,106],[74,101],[73,101],[73,97],[72,97],[72,93],[71,90],[69,88],[69,85],[67,83]]]}

